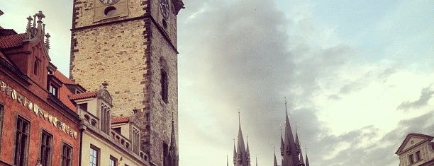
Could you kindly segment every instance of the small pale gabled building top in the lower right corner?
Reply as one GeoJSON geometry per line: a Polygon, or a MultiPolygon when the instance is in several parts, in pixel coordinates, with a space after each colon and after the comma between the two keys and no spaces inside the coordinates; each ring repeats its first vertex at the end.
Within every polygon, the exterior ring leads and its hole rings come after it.
{"type": "Polygon", "coordinates": [[[433,138],[425,134],[408,134],[395,153],[399,155],[399,166],[434,165],[433,138]]]}

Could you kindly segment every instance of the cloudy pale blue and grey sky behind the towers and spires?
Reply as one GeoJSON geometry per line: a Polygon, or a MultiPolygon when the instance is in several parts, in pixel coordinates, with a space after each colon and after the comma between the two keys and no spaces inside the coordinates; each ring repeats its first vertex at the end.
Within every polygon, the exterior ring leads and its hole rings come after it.
{"type": "MultiPolygon", "coordinates": [[[[232,163],[238,109],[252,159],[272,165],[284,97],[311,165],[398,165],[407,134],[434,136],[434,1],[184,4],[180,165],[232,163]]],[[[52,63],[69,73],[72,1],[6,0],[0,9],[0,25],[17,32],[42,10],[52,63]]]]}

